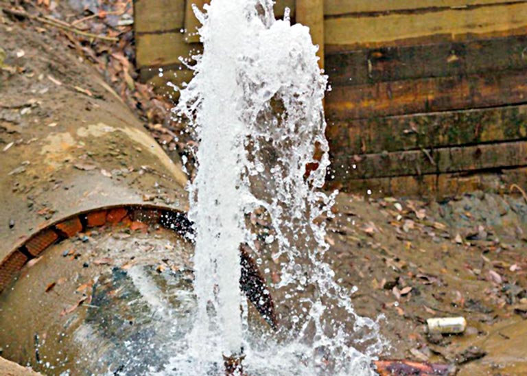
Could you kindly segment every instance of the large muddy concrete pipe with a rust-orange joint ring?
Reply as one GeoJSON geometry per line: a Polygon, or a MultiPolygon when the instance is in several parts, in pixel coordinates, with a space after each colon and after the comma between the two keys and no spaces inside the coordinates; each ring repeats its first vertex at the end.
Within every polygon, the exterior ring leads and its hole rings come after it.
{"type": "MultiPolygon", "coordinates": [[[[98,94],[54,82],[19,107],[30,86],[14,77],[4,91],[2,108],[35,116],[0,128],[0,355],[47,375],[145,374],[195,305],[187,180],[97,73],[67,51],[54,59],[98,94]]],[[[242,290],[274,326],[247,250],[241,263],[242,290]]]]}

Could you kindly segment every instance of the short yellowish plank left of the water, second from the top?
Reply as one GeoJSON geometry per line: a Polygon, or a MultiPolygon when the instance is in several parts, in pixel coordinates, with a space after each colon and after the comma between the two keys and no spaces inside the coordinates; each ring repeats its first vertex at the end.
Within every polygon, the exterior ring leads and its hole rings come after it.
{"type": "Polygon", "coordinates": [[[179,64],[179,57],[189,57],[196,45],[185,43],[181,32],[164,34],[141,34],[136,38],[137,65],[144,67],[162,67],[168,64],[179,64]]]}

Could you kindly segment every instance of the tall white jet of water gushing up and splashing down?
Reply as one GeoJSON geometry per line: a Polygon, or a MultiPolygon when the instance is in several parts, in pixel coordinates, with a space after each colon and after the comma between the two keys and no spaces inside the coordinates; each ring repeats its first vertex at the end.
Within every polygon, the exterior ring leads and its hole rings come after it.
{"type": "Polygon", "coordinates": [[[222,373],[223,357],[243,351],[252,375],[368,375],[383,346],[378,323],[355,314],[351,293],[323,262],[323,218],[335,193],[320,191],[329,159],[317,47],[307,27],[290,25],[287,10],[275,20],[270,0],[212,0],[205,10],[195,9],[204,52],[174,109],[199,141],[189,212],[198,309],[171,369],[222,373]],[[239,291],[239,246],[257,248],[246,220],[255,209],[272,224],[265,243],[282,267],[274,289],[298,302],[290,325],[256,338],[240,315],[239,291]]]}

